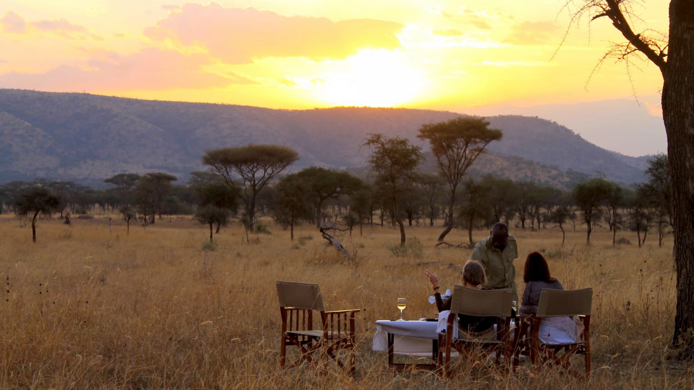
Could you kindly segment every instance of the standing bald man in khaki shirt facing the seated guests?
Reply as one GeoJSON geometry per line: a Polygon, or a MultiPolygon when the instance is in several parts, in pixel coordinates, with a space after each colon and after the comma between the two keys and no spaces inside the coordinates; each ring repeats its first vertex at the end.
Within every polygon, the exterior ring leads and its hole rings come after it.
{"type": "Polygon", "coordinates": [[[480,262],[486,273],[486,284],[482,287],[492,289],[513,289],[514,300],[518,303],[518,288],[516,287],[516,266],[514,259],[518,258],[516,237],[509,235],[506,223],[495,223],[489,237],[475,245],[470,259],[480,262]]]}

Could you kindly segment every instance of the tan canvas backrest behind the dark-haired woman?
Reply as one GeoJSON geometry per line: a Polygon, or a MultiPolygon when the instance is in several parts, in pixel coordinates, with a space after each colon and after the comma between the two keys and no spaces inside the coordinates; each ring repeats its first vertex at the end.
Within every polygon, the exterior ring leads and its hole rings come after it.
{"type": "Polygon", "coordinates": [[[593,305],[593,289],[540,291],[537,307],[539,317],[589,316],[593,305]]]}

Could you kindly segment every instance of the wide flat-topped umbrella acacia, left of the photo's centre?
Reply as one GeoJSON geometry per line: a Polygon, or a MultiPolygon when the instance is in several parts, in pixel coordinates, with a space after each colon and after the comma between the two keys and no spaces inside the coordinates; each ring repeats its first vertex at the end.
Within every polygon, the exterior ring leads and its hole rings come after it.
{"type": "Polygon", "coordinates": [[[253,231],[258,193],[289,165],[298,154],[288,146],[256,145],[206,151],[203,164],[224,179],[246,205],[246,228],[253,231]],[[239,182],[237,182],[239,180],[239,182]]]}

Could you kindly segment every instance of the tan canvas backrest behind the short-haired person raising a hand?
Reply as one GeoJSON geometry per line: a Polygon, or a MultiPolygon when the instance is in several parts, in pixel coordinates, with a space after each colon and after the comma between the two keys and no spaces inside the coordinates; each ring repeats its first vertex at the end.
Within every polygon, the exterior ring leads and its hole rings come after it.
{"type": "Polygon", "coordinates": [[[511,315],[513,296],[512,289],[482,290],[455,286],[450,298],[450,312],[471,316],[507,317],[511,315]]]}

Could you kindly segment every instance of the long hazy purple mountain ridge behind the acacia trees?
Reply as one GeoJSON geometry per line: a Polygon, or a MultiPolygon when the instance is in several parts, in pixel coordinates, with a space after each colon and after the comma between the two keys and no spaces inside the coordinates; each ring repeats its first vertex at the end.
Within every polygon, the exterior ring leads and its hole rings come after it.
{"type": "MultiPolygon", "coordinates": [[[[293,170],[360,167],[369,133],[412,138],[423,123],[459,114],[392,108],[271,110],[240,105],[142,101],[91,94],[0,90],[0,182],[18,178],[101,180],[118,172],[201,169],[205,149],[254,143],[296,149],[293,170]]],[[[625,183],[641,171],[567,128],[532,117],[491,117],[504,139],[471,173],[565,187],[600,170],[625,183]],[[519,156],[515,158],[513,156],[519,156]],[[535,164],[539,162],[541,164],[535,164]],[[511,173],[504,175],[502,173],[511,173]]],[[[628,160],[627,156],[622,156],[628,160]]]]}

